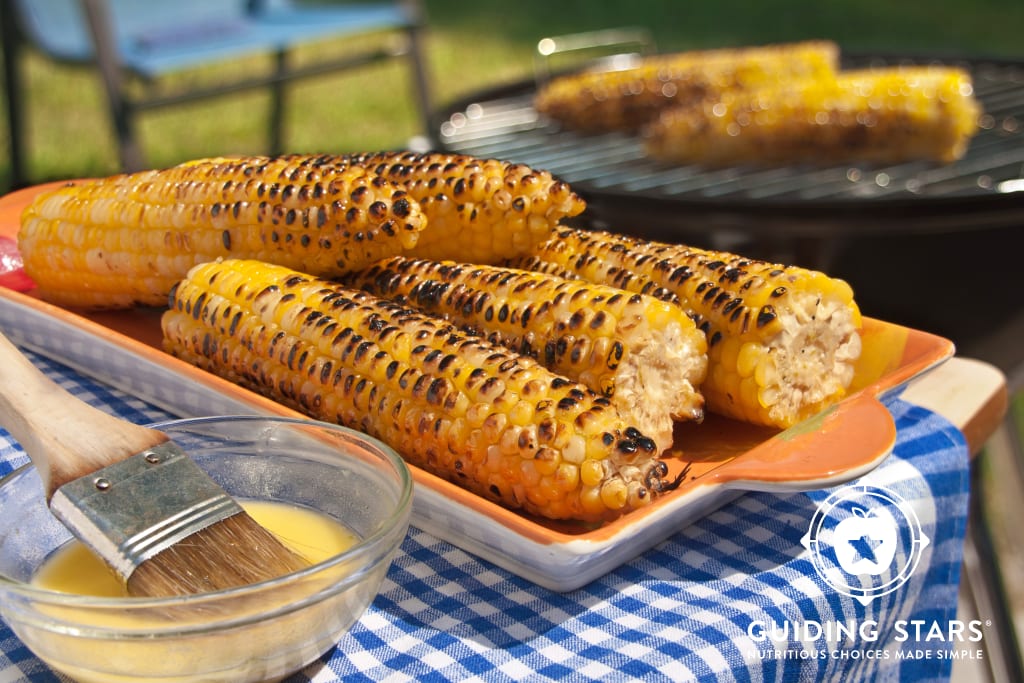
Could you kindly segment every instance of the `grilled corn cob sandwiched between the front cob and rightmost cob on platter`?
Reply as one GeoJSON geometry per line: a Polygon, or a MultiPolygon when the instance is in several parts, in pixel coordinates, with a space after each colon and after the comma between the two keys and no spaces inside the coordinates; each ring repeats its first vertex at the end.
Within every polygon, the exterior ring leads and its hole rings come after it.
{"type": "Polygon", "coordinates": [[[708,343],[679,306],[516,268],[393,257],[344,281],[441,315],[611,399],[659,449],[700,420],[708,343]]]}

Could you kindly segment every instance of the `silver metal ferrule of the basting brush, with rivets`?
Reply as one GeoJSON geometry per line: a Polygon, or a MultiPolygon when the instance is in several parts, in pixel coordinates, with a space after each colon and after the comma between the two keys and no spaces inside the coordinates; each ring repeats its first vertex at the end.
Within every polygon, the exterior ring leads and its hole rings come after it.
{"type": "Polygon", "coordinates": [[[127,581],[145,560],[242,506],[166,441],[66,483],[50,510],[127,581]]]}

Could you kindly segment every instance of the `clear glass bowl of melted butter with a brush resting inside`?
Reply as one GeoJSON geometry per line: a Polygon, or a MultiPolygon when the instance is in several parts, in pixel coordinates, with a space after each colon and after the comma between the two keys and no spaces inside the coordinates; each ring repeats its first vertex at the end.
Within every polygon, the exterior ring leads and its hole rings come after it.
{"type": "Polygon", "coordinates": [[[310,567],[238,589],[174,598],[43,590],[36,569],[71,540],[25,466],[0,480],[0,614],[39,658],[79,681],[269,681],[316,659],[380,590],[409,528],[412,477],[359,432],[284,417],[226,416],[153,427],[231,496],[310,508],[357,538],[310,567]]]}

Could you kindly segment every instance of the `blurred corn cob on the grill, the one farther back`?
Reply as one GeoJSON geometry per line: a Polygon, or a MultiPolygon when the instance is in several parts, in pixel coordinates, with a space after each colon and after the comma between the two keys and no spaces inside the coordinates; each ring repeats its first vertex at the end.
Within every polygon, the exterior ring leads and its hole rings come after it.
{"type": "Polygon", "coordinates": [[[678,52],[645,57],[629,69],[552,79],[534,105],[567,128],[633,131],[667,108],[767,83],[830,77],[838,61],[839,48],[827,41],[678,52]]]}

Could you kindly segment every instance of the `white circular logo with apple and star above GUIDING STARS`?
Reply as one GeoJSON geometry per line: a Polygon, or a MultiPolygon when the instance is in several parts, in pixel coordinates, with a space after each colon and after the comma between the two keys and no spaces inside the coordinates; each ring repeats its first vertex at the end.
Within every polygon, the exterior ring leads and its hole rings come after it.
{"type": "Polygon", "coordinates": [[[906,583],[929,539],[897,494],[857,485],[818,505],[801,544],[826,584],[866,605],[906,583]]]}

